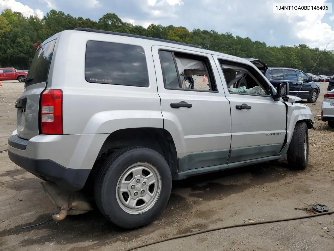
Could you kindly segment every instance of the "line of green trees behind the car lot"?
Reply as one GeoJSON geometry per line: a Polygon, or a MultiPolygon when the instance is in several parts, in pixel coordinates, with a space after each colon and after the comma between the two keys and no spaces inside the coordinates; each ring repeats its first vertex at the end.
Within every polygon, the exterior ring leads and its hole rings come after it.
{"type": "Polygon", "coordinates": [[[115,13],[107,13],[98,21],[89,18],[73,17],[64,12],[51,10],[43,19],[37,16],[24,17],[20,12],[5,9],[0,15],[0,65],[28,69],[36,48],[46,38],[66,29],[76,27],[93,28],[163,38],[197,45],[203,49],[222,52],[241,58],[256,58],[269,67],[297,68],[313,74],[334,74],[334,51],[322,51],[305,44],[293,47],[267,46],[249,37],[233,36],[226,32],[219,34],[214,30],[193,29],[173,25],[151,24],[147,28],[123,22],[115,13]]]}

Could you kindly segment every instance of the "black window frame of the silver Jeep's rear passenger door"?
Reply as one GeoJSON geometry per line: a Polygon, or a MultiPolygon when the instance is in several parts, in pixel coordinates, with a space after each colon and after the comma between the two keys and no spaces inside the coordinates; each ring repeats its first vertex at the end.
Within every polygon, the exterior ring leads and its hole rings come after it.
{"type": "Polygon", "coordinates": [[[218,91],[218,87],[217,87],[217,82],[216,82],[216,79],[215,79],[214,74],[213,74],[212,65],[210,64],[210,60],[209,60],[208,57],[203,56],[203,55],[197,55],[195,53],[179,52],[177,50],[168,50],[168,49],[162,49],[162,48],[158,49],[158,55],[159,55],[159,59],[160,59],[160,65],[161,65],[162,76],[163,76],[163,81],[164,81],[164,88],[166,90],[180,90],[180,91],[194,91],[194,92],[214,92],[214,93],[218,93],[219,92],[218,91]],[[171,52],[172,53],[172,57],[173,57],[173,61],[174,61],[174,65],[175,65],[175,69],[176,69],[176,73],[177,73],[177,78],[179,80],[179,88],[166,87],[166,78],[165,78],[164,69],[162,67],[162,61],[161,61],[161,57],[160,57],[160,51],[165,51],[165,52],[171,52]],[[202,61],[203,65],[204,65],[204,68],[205,68],[205,71],[207,73],[209,73],[206,77],[208,77],[210,79],[211,88],[212,88],[212,84],[214,84],[215,90],[183,89],[182,88],[180,74],[178,74],[179,71],[178,71],[178,68],[177,68],[177,63],[176,63],[176,59],[175,59],[174,53],[184,54],[185,56],[186,55],[192,55],[192,56],[195,56],[195,57],[205,58],[205,61],[203,61],[203,60],[200,60],[200,61],[202,61]],[[207,64],[209,64],[210,70],[208,69],[207,64]]]}

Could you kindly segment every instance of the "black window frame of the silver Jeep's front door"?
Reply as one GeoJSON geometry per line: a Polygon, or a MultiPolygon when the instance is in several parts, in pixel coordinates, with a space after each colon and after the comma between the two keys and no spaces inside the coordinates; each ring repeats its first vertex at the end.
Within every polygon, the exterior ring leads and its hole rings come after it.
{"type": "Polygon", "coordinates": [[[265,91],[269,93],[267,95],[260,95],[260,94],[252,94],[252,93],[229,92],[228,91],[228,86],[227,86],[227,83],[226,83],[226,79],[224,79],[225,84],[223,83],[223,85],[226,86],[227,92],[229,94],[257,96],[257,97],[265,97],[265,98],[268,98],[268,97],[272,98],[274,96],[273,89],[270,86],[270,84],[268,84],[269,80],[266,77],[263,78],[252,66],[249,66],[249,65],[243,64],[243,63],[239,63],[239,62],[229,61],[229,60],[222,59],[222,58],[218,58],[218,64],[220,66],[220,70],[222,71],[223,76],[224,76],[224,73],[223,73],[223,68],[221,66],[222,64],[230,65],[230,66],[238,66],[238,67],[242,67],[242,68],[246,69],[250,73],[249,76],[254,77],[261,85],[263,85],[263,87],[266,89],[265,91]],[[268,80],[268,82],[267,82],[267,80],[268,80]]]}

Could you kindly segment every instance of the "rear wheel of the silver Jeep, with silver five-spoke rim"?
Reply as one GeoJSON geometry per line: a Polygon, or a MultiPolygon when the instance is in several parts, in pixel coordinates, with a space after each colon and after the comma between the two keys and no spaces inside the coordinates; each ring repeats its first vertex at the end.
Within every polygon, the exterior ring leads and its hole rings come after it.
{"type": "Polygon", "coordinates": [[[113,224],[134,229],[154,221],[172,187],[170,168],[158,152],[129,147],[110,156],[95,182],[95,200],[113,224]]]}

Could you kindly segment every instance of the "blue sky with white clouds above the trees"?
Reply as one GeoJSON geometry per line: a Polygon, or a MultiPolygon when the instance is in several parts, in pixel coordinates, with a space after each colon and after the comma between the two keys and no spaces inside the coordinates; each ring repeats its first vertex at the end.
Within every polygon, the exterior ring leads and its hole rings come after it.
{"type": "MultiPolygon", "coordinates": [[[[50,9],[98,20],[116,13],[123,21],[147,27],[150,23],[216,30],[248,36],[270,46],[307,44],[334,50],[334,11],[274,14],[273,0],[0,0],[0,11],[11,8],[29,16],[50,9]]],[[[322,5],[334,0],[276,0],[322,5]]]]}

